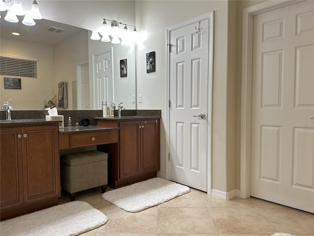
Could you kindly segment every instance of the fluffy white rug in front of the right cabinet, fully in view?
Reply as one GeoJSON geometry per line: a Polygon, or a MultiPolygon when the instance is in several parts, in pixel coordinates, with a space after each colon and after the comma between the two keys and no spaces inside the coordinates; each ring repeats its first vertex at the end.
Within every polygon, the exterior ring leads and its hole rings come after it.
{"type": "Polygon", "coordinates": [[[103,198],[126,211],[138,212],[188,193],[190,189],[163,178],[151,178],[103,194],[103,198]]]}

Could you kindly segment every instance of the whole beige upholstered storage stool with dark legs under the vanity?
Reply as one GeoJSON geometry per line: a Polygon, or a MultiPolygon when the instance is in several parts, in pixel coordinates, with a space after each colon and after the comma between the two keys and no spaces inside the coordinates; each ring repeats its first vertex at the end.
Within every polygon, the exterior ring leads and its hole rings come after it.
{"type": "Polygon", "coordinates": [[[71,201],[76,192],[102,186],[105,192],[108,183],[108,154],[91,150],[62,155],[60,159],[61,187],[70,193],[71,201]]]}

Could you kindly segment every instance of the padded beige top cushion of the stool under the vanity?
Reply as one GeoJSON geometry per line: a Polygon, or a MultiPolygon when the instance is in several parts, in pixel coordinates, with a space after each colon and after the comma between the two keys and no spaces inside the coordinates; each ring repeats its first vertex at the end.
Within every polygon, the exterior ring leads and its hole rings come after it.
{"type": "Polygon", "coordinates": [[[108,154],[102,151],[91,150],[61,156],[61,162],[69,166],[84,165],[93,162],[105,161],[108,154]]]}

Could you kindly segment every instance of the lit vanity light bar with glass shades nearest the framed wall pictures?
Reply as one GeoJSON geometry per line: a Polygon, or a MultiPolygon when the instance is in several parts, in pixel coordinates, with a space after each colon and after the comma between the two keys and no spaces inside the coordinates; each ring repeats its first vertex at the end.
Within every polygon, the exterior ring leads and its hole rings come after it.
{"type": "Polygon", "coordinates": [[[90,37],[92,40],[101,39],[103,42],[111,42],[114,44],[121,43],[121,45],[134,44],[137,37],[137,30],[135,26],[107,19],[103,20],[104,22],[102,26],[97,29],[97,31],[92,32],[92,36],[90,37]],[[110,25],[108,25],[106,21],[110,22],[110,25]],[[129,30],[128,26],[133,28],[133,30],[129,30]]]}

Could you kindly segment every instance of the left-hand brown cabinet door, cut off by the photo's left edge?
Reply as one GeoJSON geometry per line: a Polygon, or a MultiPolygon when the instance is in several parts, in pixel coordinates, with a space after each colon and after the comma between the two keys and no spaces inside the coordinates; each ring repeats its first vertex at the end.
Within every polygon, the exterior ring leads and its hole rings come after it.
{"type": "Polygon", "coordinates": [[[21,128],[1,128],[1,210],[23,205],[21,128]]]}

